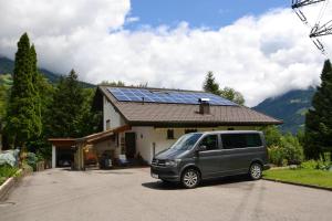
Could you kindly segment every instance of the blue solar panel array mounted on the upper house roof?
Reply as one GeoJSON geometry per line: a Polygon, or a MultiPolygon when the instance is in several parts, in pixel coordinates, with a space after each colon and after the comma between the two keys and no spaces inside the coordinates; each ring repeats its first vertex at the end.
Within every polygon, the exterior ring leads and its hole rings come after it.
{"type": "Polygon", "coordinates": [[[236,106],[237,104],[220,96],[204,92],[156,91],[147,88],[108,87],[120,102],[148,102],[166,104],[199,104],[199,98],[209,98],[211,105],[236,106]]]}

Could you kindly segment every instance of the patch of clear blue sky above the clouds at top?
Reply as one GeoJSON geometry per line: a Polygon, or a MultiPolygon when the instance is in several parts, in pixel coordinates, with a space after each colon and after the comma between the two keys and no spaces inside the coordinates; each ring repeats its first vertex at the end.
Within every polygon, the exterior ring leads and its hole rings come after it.
{"type": "Polygon", "coordinates": [[[139,21],[128,24],[128,29],[142,25],[175,27],[186,21],[189,27],[218,29],[248,14],[261,14],[274,8],[288,8],[291,0],[132,0],[131,17],[139,21]]]}

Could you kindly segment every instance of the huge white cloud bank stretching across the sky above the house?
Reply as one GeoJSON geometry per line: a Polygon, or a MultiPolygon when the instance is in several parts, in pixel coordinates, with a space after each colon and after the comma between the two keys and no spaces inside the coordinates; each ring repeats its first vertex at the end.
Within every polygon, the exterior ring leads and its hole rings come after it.
{"type": "MultiPolygon", "coordinates": [[[[146,27],[125,29],[129,1],[0,0],[0,54],[13,57],[29,32],[41,66],[74,67],[92,83],[148,82],[149,86],[200,90],[207,71],[240,91],[247,105],[319,83],[324,57],[309,30],[288,9],[245,17],[219,30],[146,27]]],[[[330,44],[330,48],[332,49],[330,44]]]]}

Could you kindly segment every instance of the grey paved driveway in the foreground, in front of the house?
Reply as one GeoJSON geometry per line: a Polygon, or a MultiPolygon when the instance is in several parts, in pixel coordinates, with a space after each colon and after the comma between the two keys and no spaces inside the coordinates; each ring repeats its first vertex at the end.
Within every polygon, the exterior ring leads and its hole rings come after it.
{"type": "Polygon", "coordinates": [[[148,168],[25,177],[0,203],[1,221],[332,220],[332,192],[243,177],[193,190],[166,186],[148,168]]]}

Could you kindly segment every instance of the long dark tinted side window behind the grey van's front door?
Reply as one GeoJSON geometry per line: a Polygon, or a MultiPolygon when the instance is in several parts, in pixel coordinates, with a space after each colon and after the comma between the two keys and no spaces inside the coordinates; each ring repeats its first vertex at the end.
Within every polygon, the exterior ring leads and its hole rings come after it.
{"type": "Polygon", "coordinates": [[[222,134],[221,141],[224,149],[262,146],[259,134],[222,134]]]}

